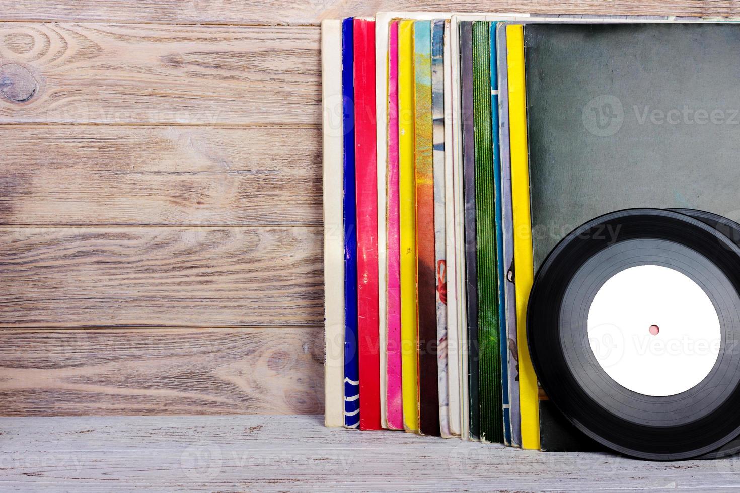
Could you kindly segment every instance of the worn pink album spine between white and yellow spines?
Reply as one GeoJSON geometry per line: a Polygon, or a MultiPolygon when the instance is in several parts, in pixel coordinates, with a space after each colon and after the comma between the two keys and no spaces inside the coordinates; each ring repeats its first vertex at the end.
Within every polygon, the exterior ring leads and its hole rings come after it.
{"type": "Polygon", "coordinates": [[[391,22],[388,37],[388,273],[386,276],[387,416],[388,428],[403,429],[401,401],[401,285],[398,198],[398,22],[391,22]]]}

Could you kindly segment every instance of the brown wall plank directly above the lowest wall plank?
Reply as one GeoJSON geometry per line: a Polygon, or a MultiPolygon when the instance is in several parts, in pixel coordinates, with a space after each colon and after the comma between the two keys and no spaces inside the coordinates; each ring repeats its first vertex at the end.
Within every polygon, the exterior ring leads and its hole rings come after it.
{"type": "Polygon", "coordinates": [[[0,228],[0,327],[318,326],[321,241],[302,227],[0,228]]]}

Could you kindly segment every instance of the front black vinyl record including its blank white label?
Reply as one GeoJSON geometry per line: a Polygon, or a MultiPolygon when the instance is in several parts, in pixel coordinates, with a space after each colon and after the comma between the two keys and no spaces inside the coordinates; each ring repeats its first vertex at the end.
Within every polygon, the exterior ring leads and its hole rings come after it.
{"type": "Polygon", "coordinates": [[[634,457],[697,457],[740,433],[740,248],[716,217],[692,215],[591,220],[556,245],[531,290],[527,336],[548,397],[634,457]]]}

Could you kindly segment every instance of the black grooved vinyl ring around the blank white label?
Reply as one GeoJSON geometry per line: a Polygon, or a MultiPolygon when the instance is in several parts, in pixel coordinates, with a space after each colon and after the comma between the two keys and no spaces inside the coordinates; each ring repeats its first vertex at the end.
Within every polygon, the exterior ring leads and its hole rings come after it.
{"type": "Polygon", "coordinates": [[[599,443],[634,457],[676,460],[713,452],[739,434],[740,248],[730,239],[739,238],[737,228],[723,219],[647,208],[605,214],[562,239],[536,274],[527,316],[536,373],[566,418],[599,443]],[[687,276],[719,317],[716,362],[699,384],[673,395],[617,384],[588,341],[599,288],[641,265],[687,276]]]}

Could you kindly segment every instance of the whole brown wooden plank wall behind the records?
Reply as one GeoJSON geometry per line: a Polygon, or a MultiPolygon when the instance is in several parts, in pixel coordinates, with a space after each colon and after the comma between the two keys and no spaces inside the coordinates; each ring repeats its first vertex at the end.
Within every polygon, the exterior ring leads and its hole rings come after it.
{"type": "Polygon", "coordinates": [[[0,10],[0,415],[323,410],[320,28],[727,0],[18,0],[0,10]]]}

